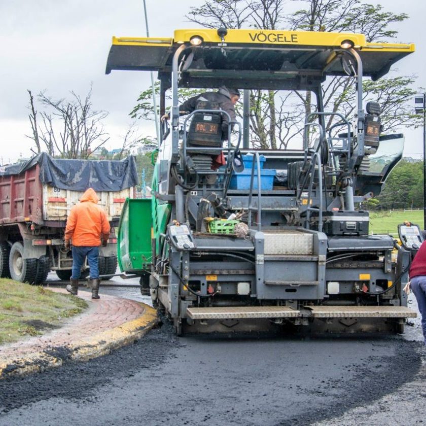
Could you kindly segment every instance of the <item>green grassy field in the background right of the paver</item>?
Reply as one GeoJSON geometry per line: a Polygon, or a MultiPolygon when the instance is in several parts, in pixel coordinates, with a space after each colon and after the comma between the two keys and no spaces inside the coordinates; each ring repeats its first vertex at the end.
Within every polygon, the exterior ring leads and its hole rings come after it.
{"type": "Polygon", "coordinates": [[[398,224],[410,221],[423,229],[423,210],[393,210],[370,212],[369,233],[398,237],[398,224]]]}

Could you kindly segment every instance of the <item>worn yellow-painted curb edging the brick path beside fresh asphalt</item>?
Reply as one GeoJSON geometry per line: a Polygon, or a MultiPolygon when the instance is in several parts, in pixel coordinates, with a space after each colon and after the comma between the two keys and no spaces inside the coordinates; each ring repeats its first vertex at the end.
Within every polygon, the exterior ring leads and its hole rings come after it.
{"type": "MultiPolygon", "coordinates": [[[[88,361],[101,357],[111,350],[125,346],[144,336],[157,323],[157,311],[145,303],[145,312],[132,321],[111,330],[80,339],[78,343],[63,346],[67,351],[66,360],[88,361]]],[[[24,375],[60,367],[64,359],[49,355],[49,351],[34,352],[0,364],[0,380],[13,375],[24,375]]]]}

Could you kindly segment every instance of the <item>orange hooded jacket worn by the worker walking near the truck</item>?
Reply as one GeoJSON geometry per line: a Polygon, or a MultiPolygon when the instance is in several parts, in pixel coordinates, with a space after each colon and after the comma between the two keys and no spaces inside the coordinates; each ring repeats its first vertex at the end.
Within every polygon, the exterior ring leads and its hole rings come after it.
{"type": "Polygon", "coordinates": [[[75,246],[95,247],[100,238],[110,236],[110,223],[107,215],[97,205],[96,192],[89,188],[80,198],[80,203],[71,208],[65,228],[65,241],[72,239],[75,246]]]}

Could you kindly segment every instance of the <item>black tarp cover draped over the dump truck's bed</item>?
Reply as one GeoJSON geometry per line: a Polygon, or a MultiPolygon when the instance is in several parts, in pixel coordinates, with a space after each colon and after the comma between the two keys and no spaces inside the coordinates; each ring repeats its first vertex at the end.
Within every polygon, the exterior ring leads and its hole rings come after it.
{"type": "Polygon", "coordinates": [[[0,167],[0,176],[20,174],[40,165],[40,180],[56,188],[72,191],[121,191],[137,185],[136,162],[133,156],[121,161],[68,160],[41,153],[27,161],[0,167]]]}

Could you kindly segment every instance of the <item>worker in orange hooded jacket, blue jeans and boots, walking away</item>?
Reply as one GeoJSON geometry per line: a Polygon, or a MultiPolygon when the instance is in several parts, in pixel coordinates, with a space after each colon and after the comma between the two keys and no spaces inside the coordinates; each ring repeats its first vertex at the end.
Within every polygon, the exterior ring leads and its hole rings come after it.
{"type": "Polygon", "coordinates": [[[67,250],[73,244],[73,273],[66,291],[77,295],[79,278],[84,260],[87,257],[90,269],[92,299],[99,299],[99,245],[106,246],[110,236],[110,223],[107,215],[97,205],[96,192],[89,188],[80,198],[80,203],[71,208],[66,221],[64,245],[67,250]]]}

